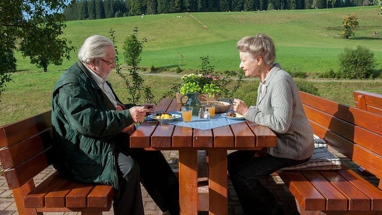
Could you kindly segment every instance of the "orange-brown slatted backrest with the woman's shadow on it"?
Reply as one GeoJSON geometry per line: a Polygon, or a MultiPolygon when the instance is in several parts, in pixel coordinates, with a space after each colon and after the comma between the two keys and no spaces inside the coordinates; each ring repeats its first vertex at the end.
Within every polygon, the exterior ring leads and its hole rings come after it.
{"type": "Polygon", "coordinates": [[[382,116],[300,92],[313,132],[382,178],[382,116]]]}

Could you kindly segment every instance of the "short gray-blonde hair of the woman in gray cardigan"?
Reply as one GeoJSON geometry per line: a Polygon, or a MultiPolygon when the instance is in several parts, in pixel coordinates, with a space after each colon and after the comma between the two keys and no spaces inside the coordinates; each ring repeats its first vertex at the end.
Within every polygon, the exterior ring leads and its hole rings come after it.
{"type": "Polygon", "coordinates": [[[243,37],[236,47],[241,52],[248,52],[252,58],[261,55],[267,65],[273,65],[276,58],[275,44],[271,37],[259,33],[254,36],[243,37]]]}

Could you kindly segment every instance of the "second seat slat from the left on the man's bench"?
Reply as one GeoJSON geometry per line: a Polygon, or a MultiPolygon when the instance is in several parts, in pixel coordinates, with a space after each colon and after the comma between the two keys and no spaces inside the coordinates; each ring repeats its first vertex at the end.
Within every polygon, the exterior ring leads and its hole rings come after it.
{"type": "Polygon", "coordinates": [[[46,208],[66,207],[66,195],[77,185],[77,182],[63,179],[45,196],[46,208]]]}

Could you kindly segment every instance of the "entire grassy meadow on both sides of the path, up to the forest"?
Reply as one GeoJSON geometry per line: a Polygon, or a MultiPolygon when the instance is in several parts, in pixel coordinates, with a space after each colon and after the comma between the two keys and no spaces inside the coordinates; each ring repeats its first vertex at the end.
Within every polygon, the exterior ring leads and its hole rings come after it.
{"type": "MultiPolygon", "coordinates": [[[[309,73],[309,84],[318,89],[321,97],[354,106],[352,91],[365,90],[382,94],[382,80],[322,80],[318,73],[338,70],[338,55],[344,47],[365,46],[372,50],[382,66],[382,17],[378,6],[349,7],[315,10],[281,10],[258,12],[205,12],[176,13],[121,17],[101,20],[67,22],[65,37],[77,49],[93,34],[109,37],[115,30],[116,46],[123,63],[123,41],[139,28],[139,38],[147,43],[141,55],[145,83],[152,87],[156,101],[170,87],[180,82],[175,75],[179,62],[186,72],[200,69],[200,57],[209,56],[216,71],[237,71],[239,65],[236,42],[244,36],[263,32],[271,36],[277,48],[277,61],[287,71],[309,73]],[[359,28],[351,39],[341,39],[341,26],[345,15],[355,13],[359,28]],[[182,58],[180,58],[180,53],[182,58]],[[162,68],[164,76],[150,76],[150,67],[162,68]],[[167,70],[167,71],[166,71],[167,70]]],[[[0,125],[17,121],[51,107],[51,93],[61,74],[77,61],[77,50],[70,61],[48,67],[48,72],[29,63],[16,52],[18,72],[14,82],[0,97],[0,125]]],[[[125,68],[125,66],[123,67],[125,68]]],[[[126,69],[124,69],[126,70],[126,69]]],[[[183,75],[185,72],[181,73],[183,75]]],[[[123,102],[127,90],[118,75],[111,74],[109,81],[123,102]]],[[[247,79],[235,97],[253,105],[258,82],[247,79]]]]}

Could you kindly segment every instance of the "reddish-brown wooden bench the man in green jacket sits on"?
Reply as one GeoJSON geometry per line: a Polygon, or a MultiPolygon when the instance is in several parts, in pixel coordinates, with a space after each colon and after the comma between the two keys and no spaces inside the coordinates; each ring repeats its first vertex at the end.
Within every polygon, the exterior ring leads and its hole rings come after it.
{"type": "Polygon", "coordinates": [[[52,163],[51,111],[0,127],[0,160],[19,215],[81,212],[101,215],[111,208],[114,191],[53,173],[37,187],[33,177],[52,163]]]}

